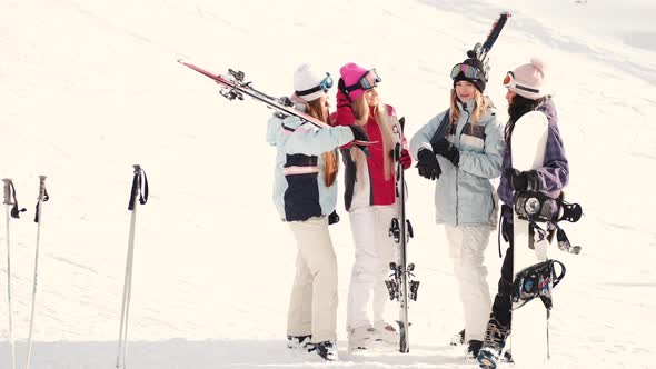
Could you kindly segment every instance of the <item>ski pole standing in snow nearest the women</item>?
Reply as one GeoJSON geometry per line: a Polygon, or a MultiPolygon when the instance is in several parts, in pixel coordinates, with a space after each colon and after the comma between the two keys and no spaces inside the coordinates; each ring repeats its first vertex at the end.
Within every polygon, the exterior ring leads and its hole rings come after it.
{"type": "Polygon", "coordinates": [[[137,198],[139,203],[145,205],[148,201],[148,178],[139,164],[132,166],[135,173],[132,177],[132,188],[130,190],[130,201],[128,210],[132,212],[130,219],[130,233],[128,237],[128,257],[126,261],[126,275],[123,280],[123,300],[121,305],[121,322],[119,328],[119,347],[116,361],[117,369],[126,367],[126,356],[128,346],[128,312],[130,298],[132,296],[132,260],[135,257],[135,225],[137,222],[137,198]]]}

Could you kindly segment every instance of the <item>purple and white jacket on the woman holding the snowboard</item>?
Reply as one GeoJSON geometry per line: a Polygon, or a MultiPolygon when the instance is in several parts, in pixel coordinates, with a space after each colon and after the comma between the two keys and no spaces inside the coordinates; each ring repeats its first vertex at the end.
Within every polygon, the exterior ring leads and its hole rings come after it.
{"type": "MultiPolygon", "coordinates": [[[[557,198],[569,181],[569,163],[567,162],[563,138],[558,130],[558,116],[551,99],[545,100],[536,110],[543,112],[549,122],[545,161],[543,167],[536,169],[536,171],[540,180],[541,192],[545,192],[550,198],[557,198]]],[[[506,146],[506,152],[504,153],[501,172],[505,173],[507,168],[513,168],[509,143],[506,146]]],[[[513,186],[508,178],[501,176],[497,193],[499,195],[499,199],[510,207],[513,206],[513,186]]],[[[511,213],[504,215],[504,217],[506,221],[513,222],[511,213]]]]}

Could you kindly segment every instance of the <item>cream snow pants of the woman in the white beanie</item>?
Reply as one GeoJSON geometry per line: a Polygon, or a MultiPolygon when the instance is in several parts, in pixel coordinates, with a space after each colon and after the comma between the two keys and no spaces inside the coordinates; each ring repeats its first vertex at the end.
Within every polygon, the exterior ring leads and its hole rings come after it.
{"type": "Polygon", "coordinates": [[[287,335],[312,335],[312,342],[337,340],[337,258],[328,217],[288,222],[298,246],[287,335]]]}

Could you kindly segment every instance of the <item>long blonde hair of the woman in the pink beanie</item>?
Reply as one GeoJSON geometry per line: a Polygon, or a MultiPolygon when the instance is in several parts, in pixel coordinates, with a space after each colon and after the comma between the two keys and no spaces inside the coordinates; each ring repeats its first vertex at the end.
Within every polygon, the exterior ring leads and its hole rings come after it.
{"type": "MultiPolygon", "coordinates": [[[[356,118],[356,124],[358,126],[366,126],[369,122],[369,116],[372,112],[374,121],[378,124],[380,136],[382,137],[382,152],[385,153],[394,150],[394,146],[399,141],[399,138],[394,134],[391,130],[391,117],[387,112],[387,108],[381,102],[380,97],[378,97],[378,103],[376,106],[369,107],[365,94],[362,94],[359,99],[351,102],[351,109],[354,111],[354,117],[356,118]]],[[[356,163],[358,163],[358,169],[364,168],[362,163],[366,160],[364,152],[354,147],[351,148],[350,153],[356,163]]],[[[385,180],[389,180],[394,172],[394,162],[389,154],[382,154],[382,158],[385,180]]]]}

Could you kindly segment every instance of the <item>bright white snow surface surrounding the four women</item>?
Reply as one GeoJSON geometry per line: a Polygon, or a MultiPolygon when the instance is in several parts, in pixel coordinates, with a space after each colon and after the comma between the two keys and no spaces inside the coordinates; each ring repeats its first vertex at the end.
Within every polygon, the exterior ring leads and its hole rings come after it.
{"type": "MultiPolygon", "coordinates": [[[[151,197],[137,220],[128,367],[324,366],[285,349],[296,247],[270,200],[270,111],[222,99],[216,84],[176,60],[216,72],[238,68],[272,94],[290,92],[300,62],[334,76],[348,61],[376,67],[381,97],[406,117],[410,137],[446,108],[448,71],[503,10],[514,17],[490,53],[487,92],[505,119],[504,73],[530,56],[548,61],[571,166],[567,197],[585,210],[567,227],[583,255],[551,252],[568,269],[555,296],[550,367],[656,366],[656,200],[646,190],[656,179],[656,53],[650,37],[640,44],[633,42],[639,37],[622,38],[626,24],[632,34],[655,33],[650,2],[275,3],[0,3],[0,176],[14,180],[29,210],[11,222],[19,367],[39,174],[48,176],[51,200],[43,206],[32,368],[115,366],[133,163],[146,169],[151,197]],[[630,22],[608,21],[628,12],[630,22]]],[[[342,221],[331,227],[340,361],[330,367],[475,367],[448,346],[463,316],[443,228],[433,221],[434,183],[415,170],[407,178],[416,232],[409,252],[421,281],[410,308],[410,353],[345,350],[352,243],[340,203],[342,221]]],[[[0,368],[10,367],[6,239],[2,226],[0,368]]],[[[493,235],[493,293],[500,261],[493,235]]],[[[390,321],[395,310],[390,305],[390,321]]]]}

